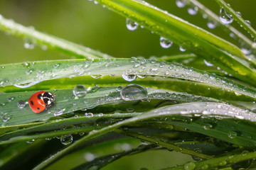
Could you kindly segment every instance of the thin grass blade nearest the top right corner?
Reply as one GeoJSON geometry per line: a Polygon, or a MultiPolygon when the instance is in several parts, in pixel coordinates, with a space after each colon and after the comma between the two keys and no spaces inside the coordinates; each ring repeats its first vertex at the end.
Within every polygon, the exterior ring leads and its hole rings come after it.
{"type": "Polygon", "coordinates": [[[230,13],[233,18],[235,19],[235,21],[237,21],[240,26],[242,26],[242,28],[244,28],[245,30],[247,30],[248,33],[250,33],[250,35],[253,38],[256,38],[256,30],[252,28],[252,26],[250,26],[250,24],[248,24],[243,18],[242,16],[238,16],[238,14],[233,10],[233,8],[231,8],[230,6],[228,6],[228,4],[223,1],[223,0],[215,0],[220,7],[225,8],[225,10],[230,13]]]}

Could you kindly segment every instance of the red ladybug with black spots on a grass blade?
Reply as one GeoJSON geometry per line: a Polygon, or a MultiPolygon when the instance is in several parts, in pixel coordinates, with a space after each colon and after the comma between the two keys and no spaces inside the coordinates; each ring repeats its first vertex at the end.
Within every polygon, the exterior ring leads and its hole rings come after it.
{"type": "Polygon", "coordinates": [[[34,113],[40,113],[55,103],[55,96],[48,91],[38,91],[28,100],[29,107],[34,113]]]}

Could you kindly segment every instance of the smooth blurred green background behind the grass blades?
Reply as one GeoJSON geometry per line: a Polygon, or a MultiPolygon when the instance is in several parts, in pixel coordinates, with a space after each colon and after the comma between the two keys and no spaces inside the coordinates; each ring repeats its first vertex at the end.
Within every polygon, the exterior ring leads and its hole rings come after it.
{"type": "MultiPolygon", "coordinates": [[[[209,29],[206,26],[207,20],[203,19],[200,13],[191,16],[187,12],[187,7],[178,8],[175,0],[149,0],[148,2],[238,45],[238,42],[231,39],[220,28],[209,29]]],[[[227,2],[231,4],[235,11],[240,11],[243,18],[250,20],[252,27],[256,27],[255,0],[227,0],[227,2]]],[[[214,13],[219,13],[220,8],[215,1],[201,0],[201,3],[208,6],[214,13]]],[[[33,26],[43,33],[100,50],[114,57],[161,57],[181,53],[175,44],[169,49],[162,48],[159,45],[159,35],[151,33],[149,30],[142,28],[134,31],[127,30],[125,18],[109,11],[107,8],[102,8],[100,4],[95,5],[92,1],[1,0],[0,13],[5,18],[14,19],[14,21],[24,26],[33,26]]],[[[232,26],[249,37],[237,23],[233,22],[232,26]]],[[[21,38],[15,38],[3,32],[0,32],[0,56],[0,64],[70,59],[72,57],[50,50],[44,51],[40,47],[27,50],[23,47],[21,38]]],[[[188,160],[193,159],[182,154],[177,155],[176,152],[151,151],[132,157],[124,157],[107,166],[105,170],[140,169],[142,167],[159,169],[175,164],[183,164],[188,160]],[[139,162],[138,159],[140,159],[139,162]]]]}

